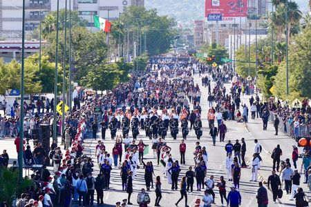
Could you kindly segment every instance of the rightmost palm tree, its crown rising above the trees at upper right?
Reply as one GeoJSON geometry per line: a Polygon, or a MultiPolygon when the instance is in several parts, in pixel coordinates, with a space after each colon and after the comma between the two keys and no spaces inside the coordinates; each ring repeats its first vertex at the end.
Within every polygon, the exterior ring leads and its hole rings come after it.
{"type": "Polygon", "coordinates": [[[302,13],[299,10],[299,6],[296,2],[288,2],[288,44],[290,44],[290,29],[293,24],[299,23],[302,17],[302,13]]]}

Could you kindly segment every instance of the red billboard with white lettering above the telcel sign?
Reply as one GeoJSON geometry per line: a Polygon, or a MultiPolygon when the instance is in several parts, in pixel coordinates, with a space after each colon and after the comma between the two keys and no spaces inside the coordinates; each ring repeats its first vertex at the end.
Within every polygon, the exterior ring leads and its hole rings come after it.
{"type": "Polygon", "coordinates": [[[223,21],[247,17],[247,0],[205,0],[205,17],[210,14],[221,14],[223,21]]]}

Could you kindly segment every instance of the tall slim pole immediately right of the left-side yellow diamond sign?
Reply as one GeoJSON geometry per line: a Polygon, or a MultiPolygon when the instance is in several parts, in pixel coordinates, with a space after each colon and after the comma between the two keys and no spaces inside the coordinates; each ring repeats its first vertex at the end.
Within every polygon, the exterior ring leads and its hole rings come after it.
{"type": "MultiPolygon", "coordinates": [[[[65,133],[65,106],[66,106],[66,39],[67,39],[67,0],[65,0],[65,36],[64,36],[64,57],[63,57],[63,106],[62,106],[62,137],[65,133]]],[[[63,139],[62,139],[63,144],[63,139]]]]}

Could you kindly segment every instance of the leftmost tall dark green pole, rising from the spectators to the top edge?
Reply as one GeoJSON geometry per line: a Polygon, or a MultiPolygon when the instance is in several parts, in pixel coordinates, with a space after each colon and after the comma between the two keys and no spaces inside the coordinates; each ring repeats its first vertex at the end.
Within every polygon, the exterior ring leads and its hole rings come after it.
{"type": "Polygon", "coordinates": [[[23,180],[23,96],[25,76],[25,0],[23,0],[23,22],[21,26],[21,126],[19,128],[19,185],[23,180]]]}

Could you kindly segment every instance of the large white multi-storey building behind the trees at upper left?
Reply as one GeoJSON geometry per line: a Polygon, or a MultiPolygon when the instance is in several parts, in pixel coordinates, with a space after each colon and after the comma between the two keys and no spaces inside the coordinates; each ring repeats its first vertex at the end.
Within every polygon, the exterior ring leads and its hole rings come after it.
{"type": "MultiPolygon", "coordinates": [[[[144,0],[67,0],[71,10],[93,26],[93,15],[115,19],[128,6],[144,6],[144,0]]],[[[59,8],[65,8],[65,0],[59,0],[59,8]]],[[[0,0],[0,37],[20,38],[22,23],[22,0],[0,0]]],[[[57,0],[26,0],[26,31],[34,30],[49,11],[57,10],[57,0]]]]}

